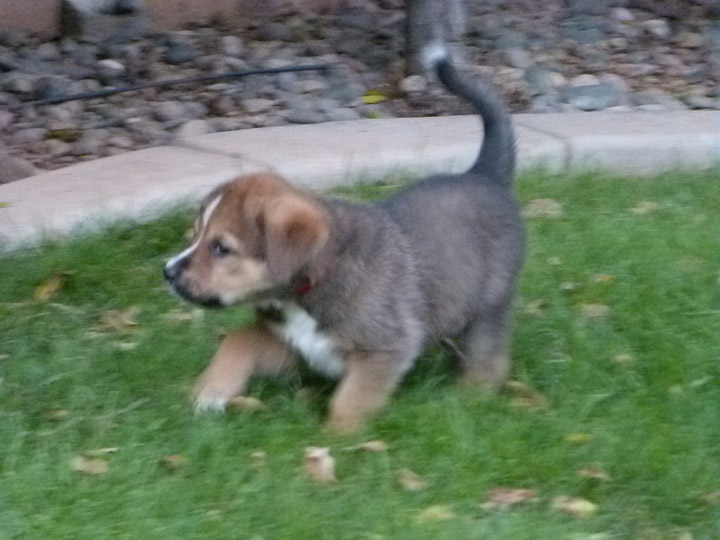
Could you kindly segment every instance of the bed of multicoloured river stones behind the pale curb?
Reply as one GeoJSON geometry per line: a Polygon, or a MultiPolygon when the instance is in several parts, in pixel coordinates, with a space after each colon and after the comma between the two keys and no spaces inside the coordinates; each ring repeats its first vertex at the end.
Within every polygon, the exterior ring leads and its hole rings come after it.
{"type": "MultiPolygon", "coordinates": [[[[469,2],[467,64],[497,85],[514,112],[720,108],[720,21],[692,2],[681,16],[664,17],[640,8],[573,8],[582,3],[469,2]]],[[[233,31],[158,33],[138,17],[94,39],[43,43],[2,31],[0,183],[217,131],[469,112],[435,83],[404,76],[402,5],[384,0],[333,15],[283,14],[233,31]],[[12,108],[117,86],[318,63],[336,67],[12,108]]]]}

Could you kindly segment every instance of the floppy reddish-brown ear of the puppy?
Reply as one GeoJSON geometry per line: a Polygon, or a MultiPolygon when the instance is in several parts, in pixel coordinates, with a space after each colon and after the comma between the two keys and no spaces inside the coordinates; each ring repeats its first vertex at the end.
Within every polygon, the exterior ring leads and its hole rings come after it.
{"type": "Polygon", "coordinates": [[[265,213],[265,238],[270,272],[286,283],[308,266],[329,236],[327,216],[299,197],[287,197],[265,213]]]}

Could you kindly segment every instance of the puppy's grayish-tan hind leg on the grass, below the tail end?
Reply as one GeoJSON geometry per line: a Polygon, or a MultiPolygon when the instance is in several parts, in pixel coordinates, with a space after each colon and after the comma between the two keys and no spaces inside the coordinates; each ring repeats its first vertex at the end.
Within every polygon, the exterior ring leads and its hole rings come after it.
{"type": "Polygon", "coordinates": [[[459,339],[464,381],[499,388],[510,374],[509,337],[509,308],[477,315],[459,339]]]}

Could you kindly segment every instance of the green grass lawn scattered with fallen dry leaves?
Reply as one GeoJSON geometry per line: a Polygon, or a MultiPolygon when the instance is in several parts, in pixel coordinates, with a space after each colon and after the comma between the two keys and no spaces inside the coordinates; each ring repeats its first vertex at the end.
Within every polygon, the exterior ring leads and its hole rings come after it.
{"type": "Polygon", "coordinates": [[[461,390],[433,351],[350,439],[322,431],[330,386],[317,379],[258,381],[266,411],[193,415],[193,378],[249,316],[198,315],[165,290],[161,267],[183,245],[187,214],[0,258],[0,539],[720,538],[720,505],[704,500],[720,491],[717,178],[533,174],[519,191],[564,211],[529,221],[513,339],[513,378],[548,406],[461,390]],[[631,212],[641,201],[661,206],[631,212]],[[34,298],[64,271],[53,298],[34,298]],[[545,302],[541,316],[524,312],[532,300],[545,302]],[[587,319],[583,304],[610,313],[587,319]],[[137,326],[97,331],[108,310],[132,306],[137,326]],[[190,319],[167,315],[177,310],[190,319]],[[370,439],[389,451],[343,450],[370,439]],[[331,447],[335,485],[307,479],[311,445],[331,447]],[[105,447],[118,448],[105,474],[70,467],[105,447]],[[186,461],[169,470],[168,455],[186,461]],[[577,474],[586,467],[610,479],[577,474]],[[400,488],[402,468],[427,489],[400,488]],[[483,509],[498,486],[540,500],[483,509]],[[558,495],[597,511],[559,513],[558,495]],[[454,517],[418,520],[435,505],[454,517]]]}

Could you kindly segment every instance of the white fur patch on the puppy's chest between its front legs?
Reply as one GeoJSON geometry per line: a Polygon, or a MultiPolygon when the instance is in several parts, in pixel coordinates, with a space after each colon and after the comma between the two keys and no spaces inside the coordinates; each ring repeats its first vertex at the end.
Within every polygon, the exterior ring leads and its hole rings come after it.
{"type": "Polygon", "coordinates": [[[319,331],[317,321],[300,306],[281,303],[275,307],[285,315],[284,322],[273,325],[276,335],[300,353],[310,368],[326,377],[340,378],[345,366],[335,340],[319,331]]]}

